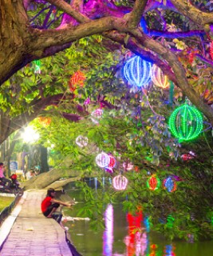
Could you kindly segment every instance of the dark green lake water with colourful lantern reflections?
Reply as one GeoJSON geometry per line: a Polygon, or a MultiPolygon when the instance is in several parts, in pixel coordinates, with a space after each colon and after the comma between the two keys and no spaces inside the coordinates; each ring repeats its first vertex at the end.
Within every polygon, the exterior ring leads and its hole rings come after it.
{"type": "MultiPolygon", "coordinates": [[[[67,192],[69,194],[69,192],[67,192]]],[[[78,198],[80,191],[72,190],[70,196],[78,198]]],[[[81,203],[66,212],[76,217],[81,203]]],[[[120,206],[108,205],[103,213],[106,229],[90,230],[89,220],[66,222],[74,246],[83,256],[212,256],[213,241],[207,242],[168,242],[160,234],[136,232],[132,234],[131,227],[140,230],[144,228],[140,214],[132,216],[125,214],[120,206]],[[107,216],[107,218],[105,218],[107,216]],[[141,226],[142,223],[142,226],[141,226]]]]}

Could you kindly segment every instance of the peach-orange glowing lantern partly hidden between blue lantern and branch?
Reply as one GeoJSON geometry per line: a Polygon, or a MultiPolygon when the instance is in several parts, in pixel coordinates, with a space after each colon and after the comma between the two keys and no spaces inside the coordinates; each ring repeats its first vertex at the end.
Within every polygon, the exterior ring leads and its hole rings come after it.
{"type": "Polygon", "coordinates": [[[152,82],[163,89],[167,89],[169,87],[168,77],[164,75],[163,71],[160,70],[160,67],[153,65],[151,72],[152,82]]]}

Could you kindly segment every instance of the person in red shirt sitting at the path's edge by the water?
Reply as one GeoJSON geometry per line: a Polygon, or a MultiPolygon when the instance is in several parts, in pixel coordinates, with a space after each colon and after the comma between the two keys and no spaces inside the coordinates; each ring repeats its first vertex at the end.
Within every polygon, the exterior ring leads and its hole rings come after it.
{"type": "Polygon", "coordinates": [[[60,224],[63,230],[66,231],[65,226],[63,226],[61,222],[62,214],[56,213],[56,211],[60,205],[70,207],[73,204],[56,200],[55,194],[56,191],[53,188],[49,188],[49,190],[47,190],[46,197],[41,202],[41,212],[46,218],[54,218],[60,224]]]}

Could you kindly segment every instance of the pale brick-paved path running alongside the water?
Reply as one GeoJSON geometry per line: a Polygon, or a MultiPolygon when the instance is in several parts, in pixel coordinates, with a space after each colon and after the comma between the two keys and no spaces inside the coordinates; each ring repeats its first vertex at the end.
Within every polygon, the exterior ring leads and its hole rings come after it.
{"type": "Polygon", "coordinates": [[[40,205],[45,194],[46,190],[26,191],[3,222],[0,227],[1,256],[72,256],[64,230],[56,221],[41,214],[40,205]]]}

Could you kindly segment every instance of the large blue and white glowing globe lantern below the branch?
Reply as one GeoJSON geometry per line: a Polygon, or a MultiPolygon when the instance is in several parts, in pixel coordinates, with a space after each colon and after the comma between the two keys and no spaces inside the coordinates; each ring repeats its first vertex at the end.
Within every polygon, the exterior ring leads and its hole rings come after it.
{"type": "Polygon", "coordinates": [[[132,86],[144,87],[151,81],[152,63],[139,56],[129,58],[124,65],[124,77],[132,86]]]}

